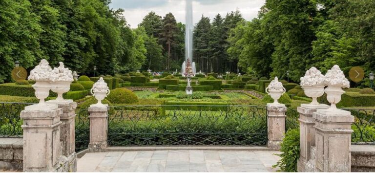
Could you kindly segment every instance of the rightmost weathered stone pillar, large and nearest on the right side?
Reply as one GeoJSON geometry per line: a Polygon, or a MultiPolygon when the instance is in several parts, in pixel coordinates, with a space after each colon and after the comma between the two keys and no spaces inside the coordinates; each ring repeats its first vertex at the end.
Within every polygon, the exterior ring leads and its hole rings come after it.
{"type": "Polygon", "coordinates": [[[351,172],[354,116],[341,109],[319,109],[315,119],[315,167],[319,172],[351,172]]]}

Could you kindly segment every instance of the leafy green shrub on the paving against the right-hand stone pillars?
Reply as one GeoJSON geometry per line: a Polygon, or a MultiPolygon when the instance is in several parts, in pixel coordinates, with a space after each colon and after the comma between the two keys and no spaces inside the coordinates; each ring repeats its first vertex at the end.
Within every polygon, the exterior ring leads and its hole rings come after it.
{"type": "Polygon", "coordinates": [[[299,128],[288,130],[281,142],[281,157],[273,167],[279,167],[281,172],[297,172],[299,159],[299,128]]]}

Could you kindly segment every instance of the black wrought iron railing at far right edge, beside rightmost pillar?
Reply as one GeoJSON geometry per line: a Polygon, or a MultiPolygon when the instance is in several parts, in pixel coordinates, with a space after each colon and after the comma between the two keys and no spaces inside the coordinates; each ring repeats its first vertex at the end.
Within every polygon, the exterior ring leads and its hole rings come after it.
{"type": "Polygon", "coordinates": [[[375,145],[375,109],[344,108],[354,116],[352,144],[375,145]]]}

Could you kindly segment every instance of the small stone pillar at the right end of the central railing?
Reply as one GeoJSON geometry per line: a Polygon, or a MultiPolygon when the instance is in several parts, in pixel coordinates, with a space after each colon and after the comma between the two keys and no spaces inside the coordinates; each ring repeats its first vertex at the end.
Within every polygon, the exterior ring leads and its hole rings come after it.
{"type": "Polygon", "coordinates": [[[285,136],[285,106],[267,106],[268,148],[280,150],[285,136]]]}

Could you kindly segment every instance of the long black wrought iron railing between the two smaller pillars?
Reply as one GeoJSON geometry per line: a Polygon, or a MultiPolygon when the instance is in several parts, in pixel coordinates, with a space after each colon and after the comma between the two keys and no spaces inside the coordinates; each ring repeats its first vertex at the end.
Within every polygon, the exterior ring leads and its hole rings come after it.
{"type": "Polygon", "coordinates": [[[109,146],[267,144],[267,108],[120,106],[108,109],[109,146]]]}

